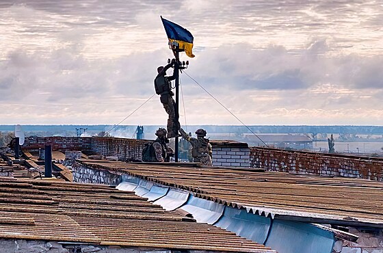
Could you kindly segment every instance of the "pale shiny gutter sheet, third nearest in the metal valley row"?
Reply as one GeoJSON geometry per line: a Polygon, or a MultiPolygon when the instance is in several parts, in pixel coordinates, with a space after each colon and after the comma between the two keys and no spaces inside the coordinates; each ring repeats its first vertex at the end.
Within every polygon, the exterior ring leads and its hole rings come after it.
{"type": "Polygon", "coordinates": [[[224,213],[224,207],[223,204],[190,196],[181,209],[192,213],[197,222],[214,224],[224,213]]]}

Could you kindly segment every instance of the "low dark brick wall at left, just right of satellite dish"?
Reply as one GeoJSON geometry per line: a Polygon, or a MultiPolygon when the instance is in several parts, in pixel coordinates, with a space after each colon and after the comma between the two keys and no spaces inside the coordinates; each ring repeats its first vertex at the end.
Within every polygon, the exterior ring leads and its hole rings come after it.
{"type": "Polygon", "coordinates": [[[30,136],[25,138],[21,147],[23,150],[38,150],[45,148],[45,145],[51,145],[52,150],[84,150],[90,148],[92,137],[37,137],[30,136]]]}

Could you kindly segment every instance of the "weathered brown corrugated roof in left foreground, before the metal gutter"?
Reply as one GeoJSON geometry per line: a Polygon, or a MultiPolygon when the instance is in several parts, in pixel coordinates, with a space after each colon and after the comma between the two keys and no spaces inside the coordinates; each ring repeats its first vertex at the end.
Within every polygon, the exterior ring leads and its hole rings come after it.
{"type": "Polygon", "coordinates": [[[222,228],[105,185],[0,177],[0,238],[100,245],[274,252],[222,228]]]}

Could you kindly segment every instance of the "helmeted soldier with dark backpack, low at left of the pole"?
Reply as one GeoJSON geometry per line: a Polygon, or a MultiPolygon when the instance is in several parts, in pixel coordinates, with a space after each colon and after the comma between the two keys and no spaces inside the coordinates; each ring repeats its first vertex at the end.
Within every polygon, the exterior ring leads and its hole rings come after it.
{"type": "Polygon", "coordinates": [[[166,137],[166,129],[159,128],[155,135],[157,139],[150,144],[146,144],[142,150],[142,161],[161,162],[170,161],[174,151],[168,146],[169,140],[166,137]]]}

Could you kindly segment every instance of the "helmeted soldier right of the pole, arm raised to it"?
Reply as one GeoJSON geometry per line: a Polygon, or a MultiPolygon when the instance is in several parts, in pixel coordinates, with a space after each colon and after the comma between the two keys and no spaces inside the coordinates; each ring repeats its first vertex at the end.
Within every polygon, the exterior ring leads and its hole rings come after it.
{"type": "Polygon", "coordinates": [[[206,131],[204,131],[204,129],[198,129],[196,131],[197,138],[190,137],[183,131],[183,129],[180,129],[180,133],[184,139],[192,144],[192,156],[194,161],[211,166],[211,156],[213,152],[211,144],[209,144],[209,139],[204,138],[206,136],[206,131]]]}

